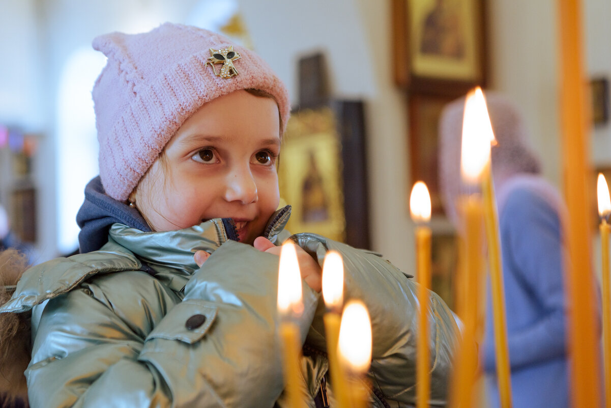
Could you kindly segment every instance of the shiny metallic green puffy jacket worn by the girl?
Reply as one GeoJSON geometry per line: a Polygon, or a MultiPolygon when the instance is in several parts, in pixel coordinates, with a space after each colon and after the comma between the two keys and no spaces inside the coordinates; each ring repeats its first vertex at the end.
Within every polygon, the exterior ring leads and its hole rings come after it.
{"type": "MultiPolygon", "coordinates": [[[[288,237],[288,216],[266,235],[288,237]]],[[[371,315],[371,405],[415,403],[416,284],[374,253],[292,236],[320,265],[342,254],[345,299],[371,315]],[[386,402],[384,402],[384,399],[386,402]]],[[[227,239],[221,220],[169,232],[114,224],[99,251],[27,270],[3,313],[32,313],[32,407],[279,407],[278,257],[227,239]],[[201,268],[197,250],[211,253],[201,268]]],[[[304,284],[301,384],[308,407],[326,382],[324,302],[304,284]]],[[[444,406],[457,328],[431,292],[431,405],[444,406]]],[[[332,384],[327,388],[334,406],[332,384]]]]}

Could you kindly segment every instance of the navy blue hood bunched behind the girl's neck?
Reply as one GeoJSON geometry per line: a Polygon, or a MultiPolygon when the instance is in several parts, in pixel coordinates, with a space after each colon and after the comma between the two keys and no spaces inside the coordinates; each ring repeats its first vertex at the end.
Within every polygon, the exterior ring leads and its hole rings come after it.
{"type": "Polygon", "coordinates": [[[81,228],[78,234],[81,253],[97,251],[108,242],[108,231],[114,223],[151,231],[137,209],[106,195],[100,176],[85,187],[85,201],[76,214],[76,223],[81,228]]]}

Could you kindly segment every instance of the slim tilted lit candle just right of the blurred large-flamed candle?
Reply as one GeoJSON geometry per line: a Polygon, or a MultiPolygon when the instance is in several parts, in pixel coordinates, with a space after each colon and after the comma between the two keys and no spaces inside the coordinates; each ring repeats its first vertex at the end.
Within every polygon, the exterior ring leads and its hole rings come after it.
{"type": "MultiPolygon", "coordinates": [[[[474,113],[478,116],[480,128],[485,138],[494,141],[492,125],[486,108],[486,100],[481,88],[475,89],[470,95],[473,100],[474,113]],[[487,135],[487,136],[486,136],[487,135]]],[[[488,264],[490,273],[490,288],[492,298],[492,322],[494,325],[494,350],[496,352],[497,382],[499,385],[500,406],[511,408],[511,376],[509,365],[509,351],[507,347],[507,318],[505,314],[505,288],[503,284],[503,269],[499,243],[499,222],[497,216],[494,185],[492,185],[492,169],[490,161],[485,166],[481,180],[481,193],[484,200],[484,221],[486,224],[486,238],[488,242],[488,264]]]]}

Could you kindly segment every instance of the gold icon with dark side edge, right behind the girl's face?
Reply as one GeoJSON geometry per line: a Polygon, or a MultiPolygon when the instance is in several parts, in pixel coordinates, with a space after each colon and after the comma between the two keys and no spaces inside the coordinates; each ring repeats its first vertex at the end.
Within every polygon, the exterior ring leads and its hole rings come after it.
{"type": "Polygon", "coordinates": [[[362,103],[333,102],[291,116],[278,167],[280,197],[292,206],[287,229],[368,248],[362,103]],[[356,105],[355,105],[356,104],[356,105]],[[360,114],[359,114],[360,112],[360,114]]]}

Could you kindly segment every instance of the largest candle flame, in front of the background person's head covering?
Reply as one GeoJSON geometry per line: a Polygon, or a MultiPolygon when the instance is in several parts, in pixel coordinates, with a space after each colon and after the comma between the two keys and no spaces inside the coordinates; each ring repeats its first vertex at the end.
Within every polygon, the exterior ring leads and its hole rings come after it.
{"type": "Polygon", "coordinates": [[[490,162],[490,146],[493,143],[496,143],[496,139],[486,100],[481,88],[477,87],[467,94],[464,104],[461,171],[467,183],[477,184],[490,162]]]}

